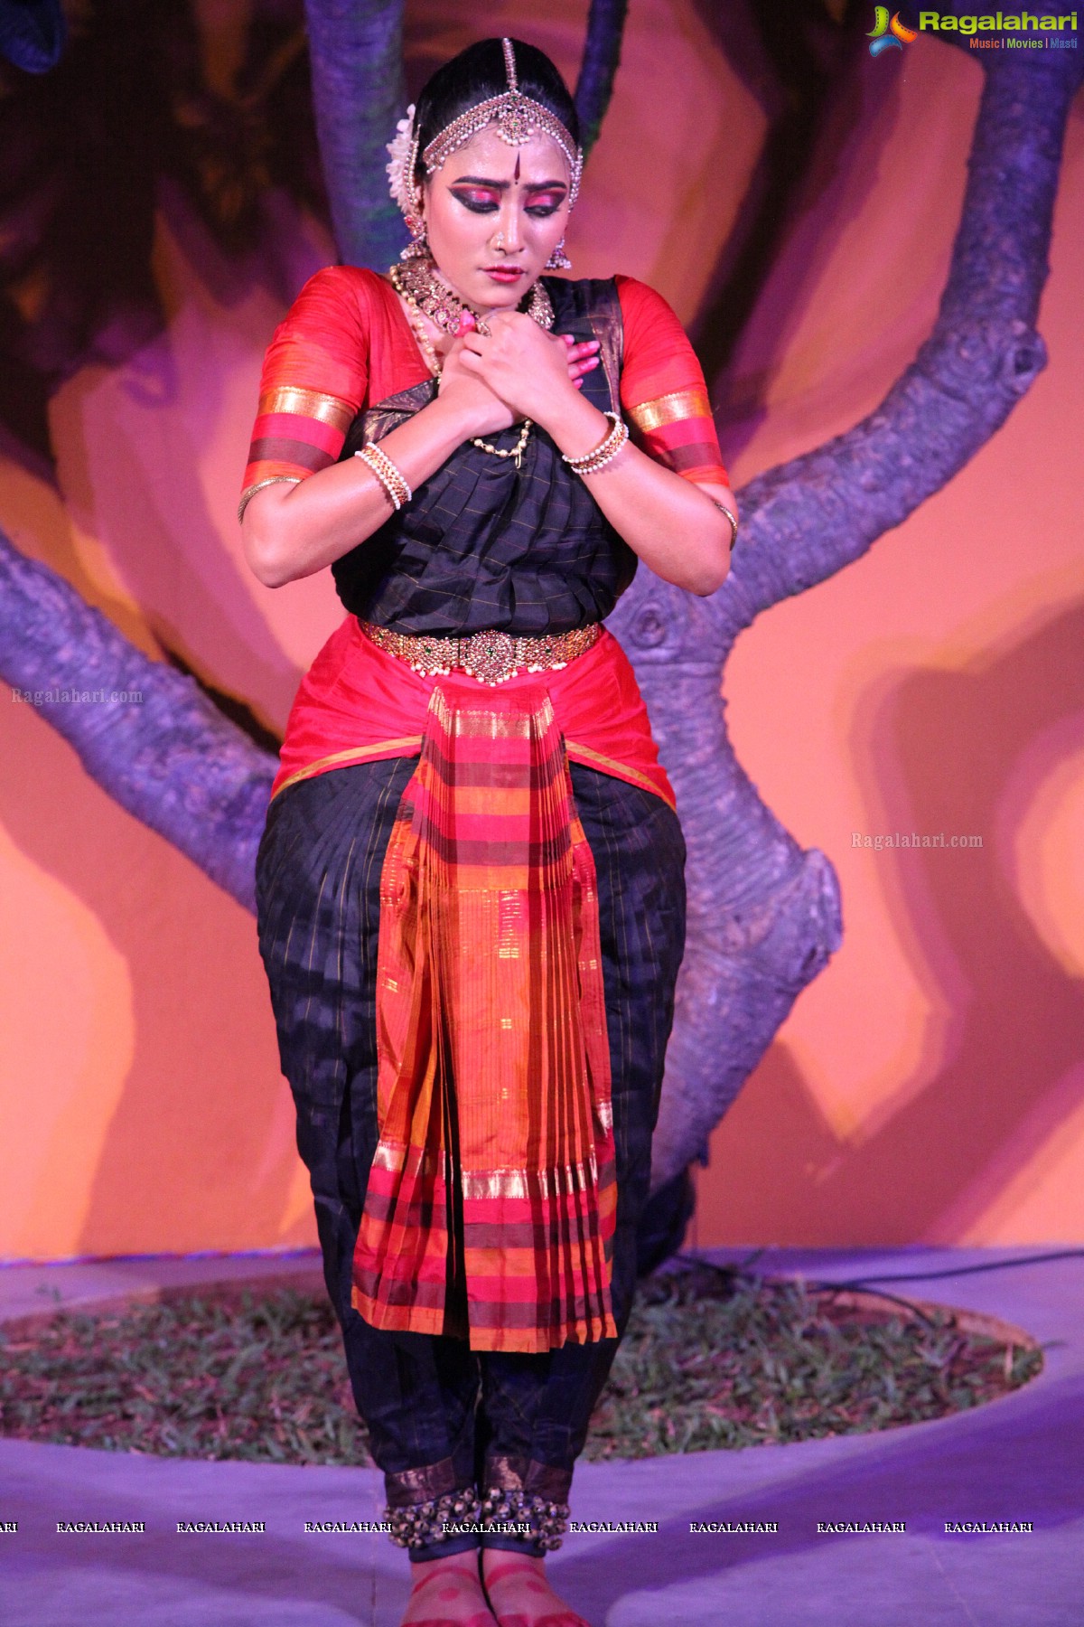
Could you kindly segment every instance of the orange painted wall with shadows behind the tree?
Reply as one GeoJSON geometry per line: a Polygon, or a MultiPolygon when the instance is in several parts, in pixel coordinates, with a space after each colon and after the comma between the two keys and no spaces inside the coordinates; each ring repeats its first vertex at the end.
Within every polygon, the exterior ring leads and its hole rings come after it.
{"type": "MultiPolygon", "coordinates": [[[[582,13],[424,0],[411,75],[499,29],[574,76],[582,13]]],[[[632,7],[570,234],[577,273],[644,277],[686,319],[765,129],[705,15],[632,7]]],[[[863,60],[722,402],[736,485],[847,428],[913,356],[978,89],[977,63],[936,41],[863,60]]],[[[741,758],[834,859],[847,937],[715,1132],[700,1243],[1084,1237],[1082,216],[1077,106],[1048,371],[946,491],[767,615],[728,669],[741,758]],[[852,846],[912,828],[983,846],[852,846]]],[[[332,247],[310,220],[286,228],[299,286],[332,247]]],[[[260,587],[232,517],[281,304],[216,264],[176,203],[156,275],[166,332],[54,400],[63,503],[0,462],[0,524],[137,643],[163,636],[281,726],[338,620],[327,579],[260,587]]],[[[0,1258],[310,1241],[252,919],[89,783],[33,708],[0,711],[0,1258]]]]}

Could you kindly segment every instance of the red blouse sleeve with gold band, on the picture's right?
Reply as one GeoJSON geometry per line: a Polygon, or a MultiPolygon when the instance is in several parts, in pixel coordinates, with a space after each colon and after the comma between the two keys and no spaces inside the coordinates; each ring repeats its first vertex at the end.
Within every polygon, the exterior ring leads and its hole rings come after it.
{"type": "Polygon", "coordinates": [[[686,480],[730,485],[707,386],[686,330],[661,294],[618,277],[624,322],[621,405],[637,443],[686,480]]]}

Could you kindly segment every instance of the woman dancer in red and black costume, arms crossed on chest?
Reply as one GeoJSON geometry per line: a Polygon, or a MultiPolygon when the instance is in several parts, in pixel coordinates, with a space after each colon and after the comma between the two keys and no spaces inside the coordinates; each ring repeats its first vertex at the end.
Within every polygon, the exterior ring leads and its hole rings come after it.
{"type": "Polygon", "coordinates": [[[631,1308],[684,942],[601,620],[637,560],[713,592],[738,521],[665,301],[541,275],[582,169],[549,59],[471,46],[390,151],[411,246],[306,285],[245,472],[258,579],[330,565],[348,610],[289,718],[260,950],[403,1619],[574,1627],[543,1559],[631,1308]]]}

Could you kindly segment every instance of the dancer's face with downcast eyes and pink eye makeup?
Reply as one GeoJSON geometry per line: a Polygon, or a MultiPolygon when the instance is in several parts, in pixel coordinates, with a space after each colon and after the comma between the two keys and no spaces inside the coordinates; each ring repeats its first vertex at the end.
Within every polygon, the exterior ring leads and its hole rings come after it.
{"type": "Polygon", "coordinates": [[[561,242],[569,161],[541,132],[509,146],[489,127],[452,153],[424,189],[429,247],[460,299],[514,311],[561,242]]]}

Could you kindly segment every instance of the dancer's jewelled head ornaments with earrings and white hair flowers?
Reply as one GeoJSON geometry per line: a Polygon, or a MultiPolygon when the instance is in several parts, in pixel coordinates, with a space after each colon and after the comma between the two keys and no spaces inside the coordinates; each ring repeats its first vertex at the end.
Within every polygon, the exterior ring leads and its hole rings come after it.
{"type": "MultiPolygon", "coordinates": [[[[512,41],[502,39],[501,49],[504,50],[504,72],[507,75],[509,88],[502,91],[501,96],[489,96],[475,107],[468,107],[466,112],[462,112],[458,119],[453,119],[432,138],[432,142],[429,142],[421,155],[426,174],[432,179],[437,169],[449,161],[452,153],[458,151],[460,146],[465,146],[471,137],[478,135],[478,132],[484,130],[489,124],[496,124],[497,135],[502,142],[507,142],[509,146],[525,146],[535,132],[541,130],[543,135],[548,135],[557,143],[569,161],[569,208],[572,208],[577,200],[580,177],[583,174],[583,150],[572,140],[570,132],[564,127],[561,119],[549,111],[549,107],[543,107],[540,101],[535,101],[533,96],[527,96],[518,88],[515,47],[512,41]]],[[[411,241],[400,255],[403,260],[413,260],[429,252],[429,244],[426,241],[426,221],[421,213],[421,187],[416,181],[419,140],[414,127],[414,104],[411,103],[406,109],[406,117],[400,119],[395,127],[395,140],[388,142],[387,148],[392,159],[387,166],[388,190],[401,208],[403,218],[406,220],[406,229],[411,236],[411,241]]],[[[572,262],[564,252],[562,238],[549,255],[546,270],[567,270],[570,265],[572,262]]]]}

